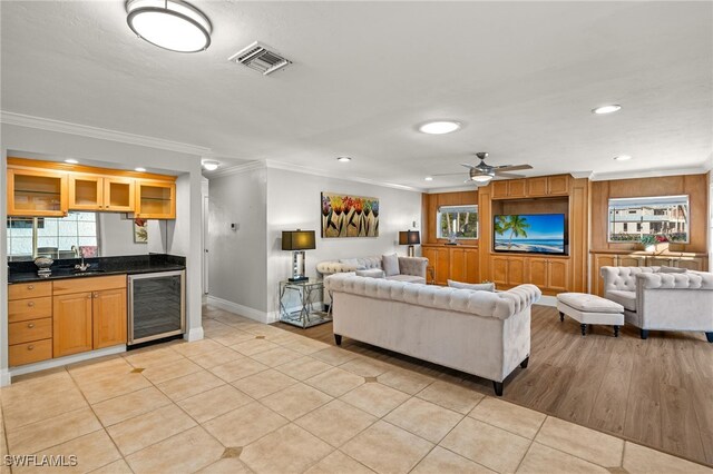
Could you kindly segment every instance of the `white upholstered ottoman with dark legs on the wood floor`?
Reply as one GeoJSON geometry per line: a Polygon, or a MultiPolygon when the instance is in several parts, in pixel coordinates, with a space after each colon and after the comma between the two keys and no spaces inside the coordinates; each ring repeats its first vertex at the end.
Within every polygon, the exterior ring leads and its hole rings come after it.
{"type": "Polygon", "coordinates": [[[588,324],[606,324],[614,326],[614,337],[619,336],[624,325],[624,306],[611,299],[586,293],[560,293],[557,295],[559,320],[565,315],[579,322],[582,335],[586,336],[588,324]]]}

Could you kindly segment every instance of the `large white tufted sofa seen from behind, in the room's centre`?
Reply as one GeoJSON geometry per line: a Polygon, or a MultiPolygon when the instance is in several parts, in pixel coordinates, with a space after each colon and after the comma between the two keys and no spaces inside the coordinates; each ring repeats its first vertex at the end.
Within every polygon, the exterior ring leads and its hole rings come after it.
{"type": "Polygon", "coordinates": [[[497,395],[527,367],[535,285],[491,293],[335,274],[324,286],[338,345],[346,336],[489,378],[497,395]]]}

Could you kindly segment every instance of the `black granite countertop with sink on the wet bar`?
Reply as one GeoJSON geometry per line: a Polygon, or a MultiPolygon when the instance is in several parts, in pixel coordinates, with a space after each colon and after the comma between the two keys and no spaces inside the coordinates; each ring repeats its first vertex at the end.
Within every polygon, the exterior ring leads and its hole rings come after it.
{"type": "Polygon", "coordinates": [[[39,277],[37,266],[32,261],[9,263],[8,284],[186,269],[185,257],[163,254],[86,258],[85,263],[89,264],[87,271],[75,270],[75,265],[79,261],[78,258],[56,260],[50,267],[52,274],[49,277],[39,277]]]}

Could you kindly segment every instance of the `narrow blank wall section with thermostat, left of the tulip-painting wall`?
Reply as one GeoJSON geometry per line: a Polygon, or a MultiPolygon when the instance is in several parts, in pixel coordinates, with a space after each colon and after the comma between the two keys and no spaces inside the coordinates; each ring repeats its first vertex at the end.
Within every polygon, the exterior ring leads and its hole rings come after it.
{"type": "Polygon", "coordinates": [[[262,167],[213,178],[208,198],[208,302],[260,320],[267,312],[266,174],[262,167]]]}

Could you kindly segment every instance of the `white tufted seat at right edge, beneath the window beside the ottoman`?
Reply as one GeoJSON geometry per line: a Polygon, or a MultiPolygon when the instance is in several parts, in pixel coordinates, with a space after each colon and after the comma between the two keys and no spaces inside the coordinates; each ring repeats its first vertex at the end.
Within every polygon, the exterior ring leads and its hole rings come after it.
{"type": "Polygon", "coordinates": [[[702,330],[713,343],[713,274],[664,273],[662,267],[602,267],[604,296],[624,306],[641,329],[702,330]]]}

